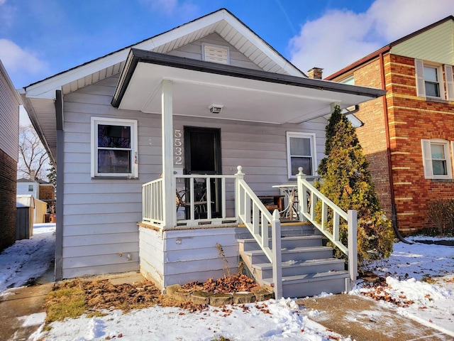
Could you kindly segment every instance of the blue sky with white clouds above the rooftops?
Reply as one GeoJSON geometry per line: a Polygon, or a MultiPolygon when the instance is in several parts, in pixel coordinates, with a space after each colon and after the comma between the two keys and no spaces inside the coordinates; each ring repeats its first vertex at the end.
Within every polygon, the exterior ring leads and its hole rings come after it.
{"type": "Polygon", "coordinates": [[[25,87],[221,8],[325,76],[454,15],[453,0],[0,0],[0,59],[25,87]]]}

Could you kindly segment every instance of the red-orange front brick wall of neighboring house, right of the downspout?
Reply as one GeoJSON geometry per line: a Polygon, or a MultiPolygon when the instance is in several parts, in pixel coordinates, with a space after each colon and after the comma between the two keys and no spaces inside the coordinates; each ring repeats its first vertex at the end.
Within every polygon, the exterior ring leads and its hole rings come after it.
{"type": "Polygon", "coordinates": [[[421,151],[421,139],[454,140],[454,103],[416,97],[414,59],[391,55],[390,61],[392,97],[388,98],[388,111],[394,197],[399,229],[409,234],[431,226],[428,202],[454,197],[452,180],[424,178],[421,151]]]}

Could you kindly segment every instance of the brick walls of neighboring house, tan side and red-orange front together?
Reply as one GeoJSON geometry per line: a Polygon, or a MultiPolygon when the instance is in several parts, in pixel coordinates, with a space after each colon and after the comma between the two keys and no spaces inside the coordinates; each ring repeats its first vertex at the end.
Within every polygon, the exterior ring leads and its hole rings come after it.
{"type": "MultiPolygon", "coordinates": [[[[345,72],[337,80],[350,72],[345,72]]],[[[378,58],[360,65],[353,74],[355,85],[382,88],[378,58]]],[[[384,75],[397,226],[403,234],[411,234],[431,227],[427,215],[429,202],[454,197],[454,180],[424,178],[421,151],[421,139],[454,141],[454,102],[431,102],[416,96],[413,58],[384,55],[384,75]]],[[[356,116],[365,122],[357,129],[358,138],[370,161],[372,180],[382,208],[390,217],[392,207],[387,184],[389,171],[382,99],[361,104],[356,116]]]]}

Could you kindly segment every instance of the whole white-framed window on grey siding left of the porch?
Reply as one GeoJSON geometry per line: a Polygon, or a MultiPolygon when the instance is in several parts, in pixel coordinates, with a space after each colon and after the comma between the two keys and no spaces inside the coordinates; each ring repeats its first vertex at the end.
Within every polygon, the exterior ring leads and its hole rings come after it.
{"type": "Polygon", "coordinates": [[[92,117],[92,176],[138,176],[137,121],[92,117]]]}

